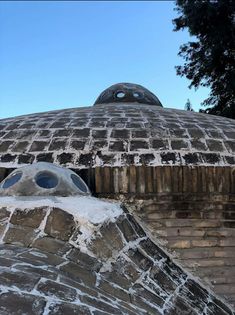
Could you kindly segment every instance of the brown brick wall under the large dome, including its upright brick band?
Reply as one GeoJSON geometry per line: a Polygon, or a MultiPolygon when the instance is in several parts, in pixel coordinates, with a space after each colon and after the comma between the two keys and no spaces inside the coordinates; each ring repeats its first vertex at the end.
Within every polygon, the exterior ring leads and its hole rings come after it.
{"type": "Polygon", "coordinates": [[[231,167],[122,167],[80,172],[124,200],[179,262],[235,303],[235,173],[231,167]]]}

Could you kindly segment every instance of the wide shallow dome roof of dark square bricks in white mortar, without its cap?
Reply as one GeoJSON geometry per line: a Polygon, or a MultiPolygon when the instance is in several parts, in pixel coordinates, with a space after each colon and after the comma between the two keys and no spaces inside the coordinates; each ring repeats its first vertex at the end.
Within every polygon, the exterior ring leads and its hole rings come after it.
{"type": "Polygon", "coordinates": [[[0,120],[0,163],[73,168],[235,164],[235,121],[160,106],[110,103],[0,120]]]}

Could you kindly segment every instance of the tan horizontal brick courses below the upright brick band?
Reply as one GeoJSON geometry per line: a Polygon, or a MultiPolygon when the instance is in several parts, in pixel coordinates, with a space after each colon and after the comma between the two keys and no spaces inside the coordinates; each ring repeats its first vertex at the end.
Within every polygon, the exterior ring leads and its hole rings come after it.
{"type": "Polygon", "coordinates": [[[181,265],[235,305],[234,204],[234,195],[165,194],[132,207],[181,265]]]}

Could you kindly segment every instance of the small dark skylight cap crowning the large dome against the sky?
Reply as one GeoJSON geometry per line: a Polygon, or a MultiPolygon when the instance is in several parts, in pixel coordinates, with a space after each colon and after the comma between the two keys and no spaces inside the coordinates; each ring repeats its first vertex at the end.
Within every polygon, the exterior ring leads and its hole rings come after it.
{"type": "Polygon", "coordinates": [[[142,85],[117,83],[104,90],[94,105],[107,103],[140,103],[161,106],[159,99],[142,85]]]}

